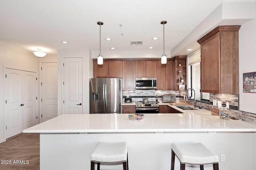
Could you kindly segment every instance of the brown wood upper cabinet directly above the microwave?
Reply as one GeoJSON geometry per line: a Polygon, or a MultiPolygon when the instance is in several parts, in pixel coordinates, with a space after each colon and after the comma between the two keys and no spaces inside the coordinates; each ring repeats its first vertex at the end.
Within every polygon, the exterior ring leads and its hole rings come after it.
{"type": "Polygon", "coordinates": [[[156,77],[156,61],[136,61],[136,77],[156,77]]]}

